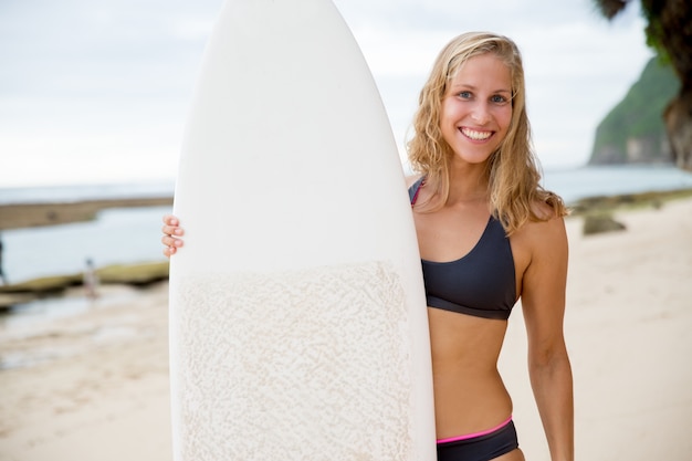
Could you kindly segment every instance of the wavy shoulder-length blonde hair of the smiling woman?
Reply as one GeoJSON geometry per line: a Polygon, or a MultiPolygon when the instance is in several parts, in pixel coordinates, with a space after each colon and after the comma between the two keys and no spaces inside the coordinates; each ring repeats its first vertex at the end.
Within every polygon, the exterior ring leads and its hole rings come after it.
{"type": "Polygon", "coordinates": [[[506,36],[489,32],[469,32],[453,39],[438,55],[423,85],[413,117],[413,137],[408,155],[415,171],[426,176],[426,186],[439,202],[422,203],[422,211],[441,208],[449,198],[450,164],[454,156],[442,138],[440,112],[448,83],[471,57],[493,53],[512,75],[512,119],[505,138],[487,159],[491,212],[512,234],[528,220],[547,220],[565,216],[567,209],[555,193],[539,185],[538,163],[531,142],[526,115],[526,90],[522,56],[516,44],[506,36]],[[551,216],[536,214],[536,202],[547,203],[551,216]]]}

